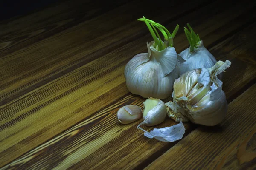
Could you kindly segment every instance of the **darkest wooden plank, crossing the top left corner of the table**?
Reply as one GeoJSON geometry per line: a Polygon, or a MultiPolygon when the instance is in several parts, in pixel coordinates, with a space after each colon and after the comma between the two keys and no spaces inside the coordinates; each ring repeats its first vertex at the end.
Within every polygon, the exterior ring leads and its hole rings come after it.
{"type": "Polygon", "coordinates": [[[0,22],[0,57],[111,11],[127,2],[129,1],[66,0],[16,20],[0,22]]]}

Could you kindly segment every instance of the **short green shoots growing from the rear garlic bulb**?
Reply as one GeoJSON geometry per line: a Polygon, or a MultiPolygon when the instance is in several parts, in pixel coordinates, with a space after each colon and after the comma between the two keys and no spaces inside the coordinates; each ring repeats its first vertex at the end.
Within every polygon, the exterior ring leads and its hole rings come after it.
{"type": "Polygon", "coordinates": [[[199,42],[201,41],[198,34],[195,34],[195,31],[192,29],[192,27],[187,23],[187,26],[189,27],[189,30],[184,27],[185,35],[189,41],[190,44],[190,52],[193,52],[194,49],[198,48],[199,42]]]}

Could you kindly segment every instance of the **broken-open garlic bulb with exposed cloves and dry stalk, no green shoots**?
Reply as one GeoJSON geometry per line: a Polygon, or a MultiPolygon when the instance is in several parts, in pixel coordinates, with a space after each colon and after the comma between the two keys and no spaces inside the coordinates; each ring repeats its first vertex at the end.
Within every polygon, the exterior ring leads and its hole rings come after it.
{"type": "MultiPolygon", "coordinates": [[[[169,117],[185,116],[191,122],[206,126],[220,123],[227,113],[227,101],[222,82],[217,75],[231,65],[230,61],[218,61],[211,68],[199,68],[182,74],[173,86],[173,102],[167,106],[169,117]],[[175,116],[172,115],[175,113],[175,116]]],[[[183,119],[184,120],[184,119],[183,119]]]]}

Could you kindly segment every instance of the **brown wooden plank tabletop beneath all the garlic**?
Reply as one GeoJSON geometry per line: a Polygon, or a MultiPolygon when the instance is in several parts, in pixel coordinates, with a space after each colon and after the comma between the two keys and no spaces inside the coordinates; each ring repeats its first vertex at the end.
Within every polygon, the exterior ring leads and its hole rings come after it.
{"type": "MultiPolygon", "coordinates": [[[[66,0],[0,22],[1,170],[255,169],[255,5],[66,0]],[[141,120],[119,124],[120,107],[145,101],[128,91],[123,75],[152,40],[136,21],[143,15],[169,30],[180,25],[178,53],[189,46],[189,22],[217,60],[232,62],[220,125],[186,123],[183,139],[166,143],[146,138],[136,128],[141,120]]],[[[155,128],[175,124],[166,118],[155,128]]]]}

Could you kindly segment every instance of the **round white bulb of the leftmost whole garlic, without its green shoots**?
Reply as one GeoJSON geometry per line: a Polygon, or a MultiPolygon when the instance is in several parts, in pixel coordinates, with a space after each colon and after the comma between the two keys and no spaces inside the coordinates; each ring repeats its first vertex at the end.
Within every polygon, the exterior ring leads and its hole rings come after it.
{"type": "Polygon", "coordinates": [[[157,51],[152,44],[147,44],[148,53],[137,54],[125,66],[126,85],[144,98],[165,99],[178,78],[177,53],[174,47],[157,51]]]}

